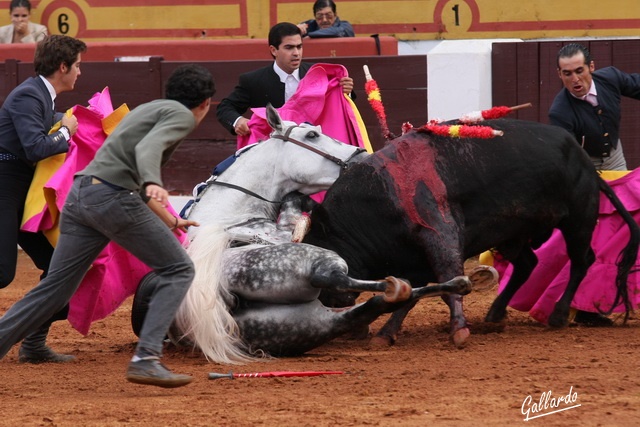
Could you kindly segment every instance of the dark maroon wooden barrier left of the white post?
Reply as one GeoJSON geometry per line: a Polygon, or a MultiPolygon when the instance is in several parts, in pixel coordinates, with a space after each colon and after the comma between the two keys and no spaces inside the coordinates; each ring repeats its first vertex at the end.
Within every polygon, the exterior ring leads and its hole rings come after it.
{"type": "MultiPolygon", "coordinates": [[[[193,186],[206,179],[211,168],[231,155],[235,137],[215,117],[216,105],[227,96],[238,81],[238,75],[270,64],[263,61],[195,61],[209,69],[216,83],[216,94],[209,115],[189,136],[163,170],[167,189],[172,194],[189,194],[193,186]]],[[[426,56],[362,56],[319,58],[309,62],[339,63],[354,79],[356,105],[367,126],[374,147],[384,144],[378,121],[368,105],[364,92],[363,65],[368,65],[382,92],[389,128],[400,133],[404,121],[421,125],[427,121],[426,56]]],[[[57,108],[63,111],[73,105],[86,105],[87,100],[108,86],[114,107],[126,103],[129,108],[162,97],[163,86],[181,62],[151,58],[147,62],[86,62],[72,92],[60,94],[57,108]]],[[[0,63],[0,103],[27,77],[33,75],[33,64],[7,60],[0,63]]]]}

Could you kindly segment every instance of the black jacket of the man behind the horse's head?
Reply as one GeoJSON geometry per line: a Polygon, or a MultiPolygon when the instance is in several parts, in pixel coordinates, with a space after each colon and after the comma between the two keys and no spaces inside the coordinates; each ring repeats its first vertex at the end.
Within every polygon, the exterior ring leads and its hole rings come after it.
{"type": "MultiPolygon", "coordinates": [[[[300,79],[309,71],[311,65],[300,65],[300,79]]],[[[235,135],[233,122],[247,112],[249,108],[266,107],[271,103],[275,108],[284,105],[284,83],[273,70],[273,64],[240,75],[236,88],[218,104],[218,121],[232,135],[235,135]]]]}

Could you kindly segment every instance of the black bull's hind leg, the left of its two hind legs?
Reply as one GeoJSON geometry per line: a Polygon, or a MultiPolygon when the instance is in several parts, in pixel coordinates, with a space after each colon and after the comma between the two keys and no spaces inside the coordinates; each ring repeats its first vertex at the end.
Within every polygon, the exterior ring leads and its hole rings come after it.
{"type": "Polygon", "coordinates": [[[486,317],[485,322],[500,323],[507,316],[507,305],[520,286],[529,278],[531,272],[538,264],[538,257],[531,247],[523,246],[520,253],[513,259],[509,260],[513,264],[513,273],[507,286],[493,300],[486,317]]]}

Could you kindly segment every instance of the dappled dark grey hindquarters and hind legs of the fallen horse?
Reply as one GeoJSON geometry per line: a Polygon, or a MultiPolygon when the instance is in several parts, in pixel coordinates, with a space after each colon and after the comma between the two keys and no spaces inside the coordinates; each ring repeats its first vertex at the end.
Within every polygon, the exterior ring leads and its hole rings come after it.
{"type": "MultiPolygon", "coordinates": [[[[247,355],[230,357],[226,363],[247,362],[262,355],[299,356],[347,332],[367,327],[382,314],[408,303],[431,296],[466,295],[474,285],[497,281],[492,268],[479,268],[469,277],[458,276],[416,289],[393,277],[381,281],[354,280],[346,275],[346,264],[335,253],[301,243],[227,249],[224,258],[220,268],[228,284],[227,300],[231,299],[226,307],[237,324],[235,345],[247,355]],[[326,288],[374,291],[381,295],[353,307],[335,309],[318,300],[321,289],[326,288]]],[[[149,285],[151,280],[147,280],[153,274],[142,281],[136,292],[137,316],[144,317],[146,303],[154,291],[149,285]]],[[[203,320],[213,321],[206,315],[203,320]]],[[[208,351],[208,345],[215,345],[210,341],[226,339],[213,330],[209,333],[204,337],[193,335],[174,325],[171,338],[176,344],[203,351],[208,351]]]]}

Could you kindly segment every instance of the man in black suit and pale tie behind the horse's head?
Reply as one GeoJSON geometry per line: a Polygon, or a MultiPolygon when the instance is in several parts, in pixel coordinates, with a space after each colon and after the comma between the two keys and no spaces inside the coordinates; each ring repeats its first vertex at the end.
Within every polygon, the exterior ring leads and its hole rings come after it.
{"type": "MultiPolygon", "coordinates": [[[[282,107],[312,65],[302,62],[302,32],[290,22],[281,22],[269,30],[269,50],[275,59],[273,65],[240,75],[234,91],[218,105],[218,121],[232,135],[250,133],[249,119],[243,117],[249,108],[266,107],[269,103],[282,107]]],[[[353,79],[344,77],[340,85],[349,94],[353,79]]]]}

